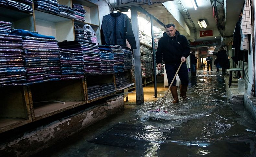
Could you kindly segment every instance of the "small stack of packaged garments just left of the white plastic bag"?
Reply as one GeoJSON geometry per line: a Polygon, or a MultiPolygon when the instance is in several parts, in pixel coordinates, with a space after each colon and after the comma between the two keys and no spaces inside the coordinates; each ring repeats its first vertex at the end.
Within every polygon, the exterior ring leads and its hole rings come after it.
{"type": "MultiPolygon", "coordinates": [[[[78,27],[78,26],[76,26],[78,27]]],[[[92,35],[91,32],[83,29],[83,28],[76,28],[75,29],[75,39],[81,42],[89,42],[92,43],[92,35]]]]}

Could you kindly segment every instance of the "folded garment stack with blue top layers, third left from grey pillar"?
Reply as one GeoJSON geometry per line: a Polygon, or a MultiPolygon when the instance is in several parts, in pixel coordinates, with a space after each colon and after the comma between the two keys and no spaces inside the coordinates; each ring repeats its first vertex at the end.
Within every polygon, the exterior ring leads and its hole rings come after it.
{"type": "Polygon", "coordinates": [[[102,74],[115,73],[114,71],[114,54],[110,49],[99,48],[100,50],[100,69],[102,74]]]}

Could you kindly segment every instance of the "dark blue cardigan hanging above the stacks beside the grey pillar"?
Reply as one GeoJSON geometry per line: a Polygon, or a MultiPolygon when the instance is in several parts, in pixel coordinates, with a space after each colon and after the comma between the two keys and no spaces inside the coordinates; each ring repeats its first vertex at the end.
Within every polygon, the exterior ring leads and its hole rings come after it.
{"type": "Polygon", "coordinates": [[[105,15],[101,25],[102,45],[126,46],[126,39],[131,45],[131,49],[136,49],[136,41],[129,17],[120,12],[105,15]]]}

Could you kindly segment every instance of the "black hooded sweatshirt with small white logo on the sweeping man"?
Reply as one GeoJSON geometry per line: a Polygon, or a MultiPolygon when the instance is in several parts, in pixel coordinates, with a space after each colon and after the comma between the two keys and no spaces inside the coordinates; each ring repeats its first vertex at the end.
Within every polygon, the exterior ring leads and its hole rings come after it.
{"type": "Polygon", "coordinates": [[[158,41],[156,62],[161,63],[163,59],[165,63],[180,64],[181,57],[187,58],[189,54],[190,47],[185,36],[176,31],[174,37],[169,37],[164,32],[163,37],[158,41]]]}

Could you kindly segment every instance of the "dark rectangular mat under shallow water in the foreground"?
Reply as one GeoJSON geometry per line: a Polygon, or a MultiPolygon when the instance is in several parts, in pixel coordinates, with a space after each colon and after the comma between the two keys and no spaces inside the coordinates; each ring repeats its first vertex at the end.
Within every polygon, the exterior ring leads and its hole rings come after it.
{"type": "MultiPolygon", "coordinates": [[[[89,140],[88,142],[126,148],[143,149],[147,147],[149,143],[155,142],[155,140],[159,140],[152,139],[152,137],[161,136],[159,135],[160,132],[158,130],[159,129],[155,127],[116,124],[112,128],[103,132],[94,139],[89,140]]],[[[170,133],[170,131],[168,131],[168,133],[170,133]]]]}

